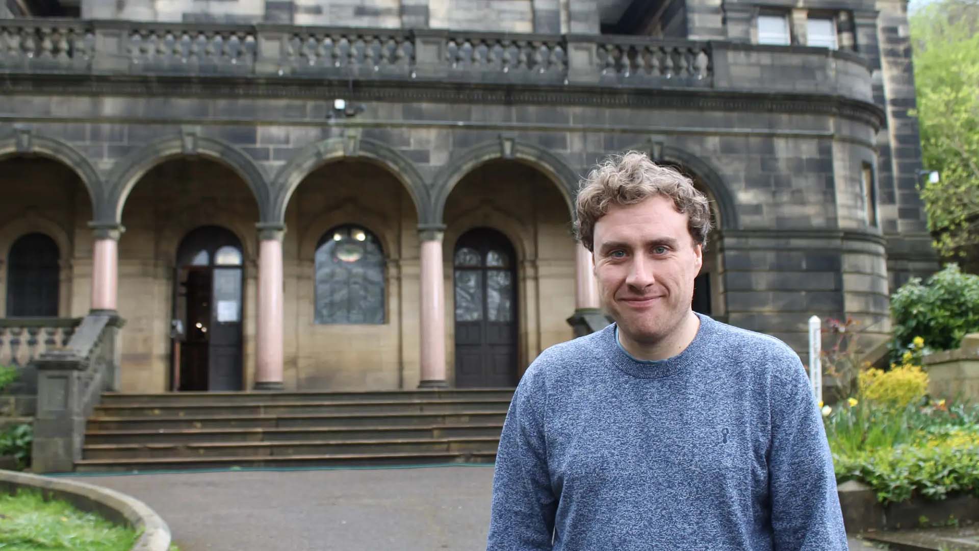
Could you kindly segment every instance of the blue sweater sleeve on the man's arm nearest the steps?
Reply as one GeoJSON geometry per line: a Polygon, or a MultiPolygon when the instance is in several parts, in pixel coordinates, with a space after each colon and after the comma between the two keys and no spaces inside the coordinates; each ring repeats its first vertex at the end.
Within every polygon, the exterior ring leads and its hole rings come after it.
{"type": "Polygon", "coordinates": [[[500,435],[492,482],[488,551],[552,548],[557,498],[547,468],[547,397],[538,362],[517,386],[500,435]]]}

